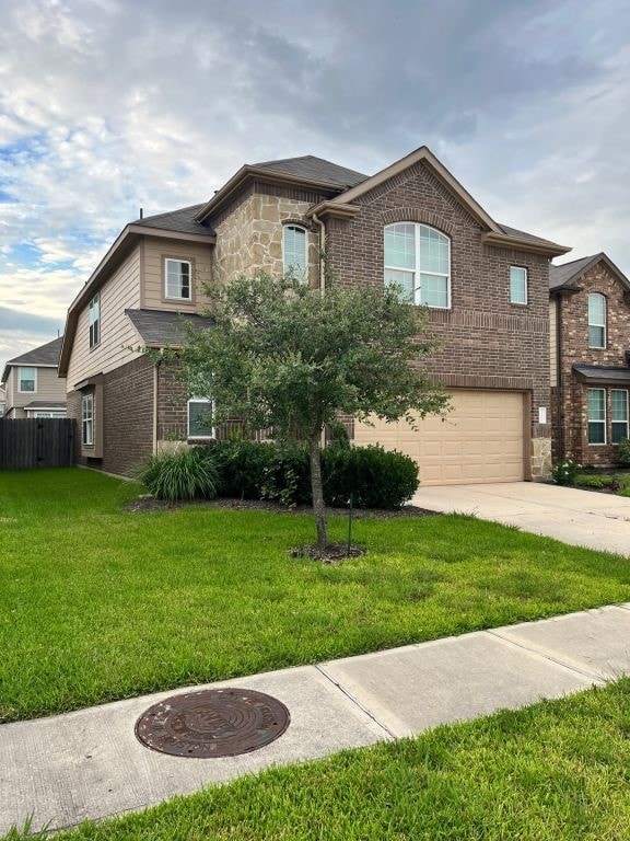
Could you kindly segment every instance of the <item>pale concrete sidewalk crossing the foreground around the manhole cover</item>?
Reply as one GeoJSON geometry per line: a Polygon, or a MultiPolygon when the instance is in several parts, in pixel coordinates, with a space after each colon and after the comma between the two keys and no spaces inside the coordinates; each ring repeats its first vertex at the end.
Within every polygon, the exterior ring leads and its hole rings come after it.
{"type": "Polygon", "coordinates": [[[5,724],[0,833],[30,814],[33,830],[59,829],[273,764],[517,708],[622,673],[630,673],[630,603],[211,684],[267,692],[290,710],[283,736],[240,757],[172,757],[136,739],[136,719],[185,689],[5,724]]]}

